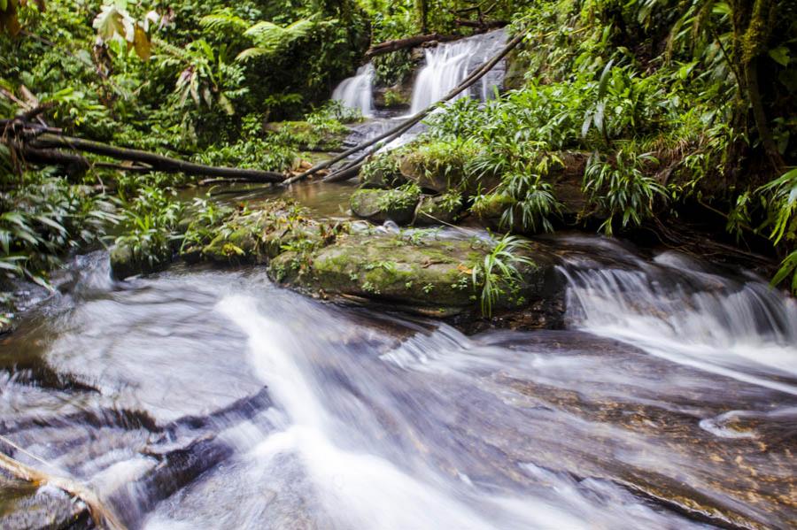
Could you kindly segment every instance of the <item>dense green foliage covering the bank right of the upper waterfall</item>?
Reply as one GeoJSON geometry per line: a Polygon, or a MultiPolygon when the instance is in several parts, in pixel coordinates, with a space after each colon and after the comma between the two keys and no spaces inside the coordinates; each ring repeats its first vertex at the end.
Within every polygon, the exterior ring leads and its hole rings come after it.
{"type": "Polygon", "coordinates": [[[779,2],[538,2],[515,17],[522,86],[447,106],[425,142],[480,146],[465,179],[484,183],[476,209],[503,204],[504,227],[553,229],[555,183],[582,152],[584,220],[612,233],[714,204],[739,238],[788,254],[782,280],[797,272],[795,15],[779,2]]]}

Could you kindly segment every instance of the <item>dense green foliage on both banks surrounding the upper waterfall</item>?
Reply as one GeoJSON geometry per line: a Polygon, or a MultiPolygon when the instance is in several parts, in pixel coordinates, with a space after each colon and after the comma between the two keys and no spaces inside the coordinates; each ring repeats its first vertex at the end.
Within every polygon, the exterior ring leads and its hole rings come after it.
{"type": "MultiPolygon", "coordinates": [[[[281,172],[295,169],[303,150],[340,147],[344,124],[359,117],[324,99],[361,64],[369,43],[511,22],[510,33],[526,35],[511,57],[520,73],[512,89],[486,104],[462,98],[434,113],[419,142],[372,157],[364,181],[406,186],[402,162],[429,180],[442,174],[448,189],[437,192],[522,233],[551,231],[566,216],[612,234],[695,209],[719,212],[739,242],[765,250],[769,241],[783,259],[776,282],[791,279],[797,289],[791,3],[3,5],[0,118],[45,105],[41,118],[69,134],[281,172]],[[564,184],[584,198],[575,213],[561,195],[564,184]]],[[[399,50],[375,58],[377,80],[406,81],[412,57],[399,50]]],[[[206,200],[177,200],[174,188],[188,182],[182,175],[108,169],[101,157],[89,157],[85,174],[37,169],[3,137],[6,273],[44,281],[69,250],[101,240],[114,224],[120,242],[159,259],[218,220],[206,200]],[[185,218],[207,222],[186,234],[185,218]]]]}

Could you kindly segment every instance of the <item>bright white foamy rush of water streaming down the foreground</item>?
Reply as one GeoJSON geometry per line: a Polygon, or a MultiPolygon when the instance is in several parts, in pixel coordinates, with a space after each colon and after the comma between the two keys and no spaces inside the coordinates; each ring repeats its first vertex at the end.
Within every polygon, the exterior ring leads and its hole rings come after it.
{"type": "MultiPolygon", "coordinates": [[[[325,349],[324,341],[314,339],[312,334],[297,335],[284,322],[260,311],[251,297],[228,296],[218,309],[249,337],[251,365],[267,384],[275,403],[284,409],[290,424],[267,436],[249,451],[246,459],[273,473],[280,458],[298,457],[313,495],[321,504],[323,516],[317,515],[320,520],[329,520],[331,527],[577,529],[594,528],[597,524],[619,528],[630,527],[630,517],[635,525],[642,521],[661,527],[669,524],[669,518],[638,503],[620,488],[600,480],[573,480],[531,464],[521,465],[517,472],[545,484],[546,488],[536,495],[491,492],[490,488],[484,489],[484,484],[475,485],[462,472],[441,474],[429,465],[414,467],[410,472],[374,451],[373,442],[361,444],[361,435],[377,434],[378,440],[383,434],[383,426],[368,414],[348,425],[335,417],[332,411],[338,403],[321,391],[323,380],[317,379],[313,354],[308,353],[324,349],[329,356],[335,356],[334,348],[325,349]],[[606,511],[607,502],[613,504],[611,511],[606,511]],[[621,505],[626,509],[618,510],[621,505]]],[[[435,332],[428,341],[421,338],[423,334],[416,335],[415,353],[423,358],[417,350],[426,346],[429,351],[451,351],[448,357],[454,363],[455,357],[469,357],[468,349],[473,343],[453,329],[445,329],[445,335],[435,332]]],[[[387,353],[383,358],[399,361],[402,350],[406,355],[402,346],[395,355],[387,353]]],[[[469,364],[467,358],[464,362],[469,364]]],[[[370,389],[379,392],[379,387],[370,389]]],[[[377,402],[391,399],[386,394],[371,397],[377,402]]],[[[401,430],[402,426],[398,428],[401,430]]],[[[376,443],[381,444],[385,445],[385,452],[391,452],[387,439],[376,443]]],[[[408,456],[407,461],[412,459],[408,456]]]]}

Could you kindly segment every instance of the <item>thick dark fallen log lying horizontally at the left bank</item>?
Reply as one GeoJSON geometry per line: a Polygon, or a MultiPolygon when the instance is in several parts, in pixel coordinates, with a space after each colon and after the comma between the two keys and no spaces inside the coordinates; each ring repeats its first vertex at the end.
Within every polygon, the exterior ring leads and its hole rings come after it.
{"type": "Polygon", "coordinates": [[[6,142],[12,139],[15,147],[19,148],[25,160],[35,163],[66,165],[68,168],[73,169],[88,169],[90,164],[84,157],[63,151],[71,150],[132,162],[135,165],[130,167],[119,166],[119,168],[137,173],[154,171],[185,173],[188,175],[259,183],[282,182],[285,178],[282,173],[194,164],[193,162],[166,157],[150,151],[114,147],[107,143],[66,136],[59,133],[58,129],[42,127],[38,124],[27,122],[21,117],[0,120],[0,130],[4,130],[6,142]]]}

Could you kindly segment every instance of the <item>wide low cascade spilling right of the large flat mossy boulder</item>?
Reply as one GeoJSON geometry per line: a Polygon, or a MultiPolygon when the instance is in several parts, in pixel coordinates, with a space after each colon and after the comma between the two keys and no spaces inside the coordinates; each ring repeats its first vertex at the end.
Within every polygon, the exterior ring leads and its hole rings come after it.
{"type": "MultiPolygon", "coordinates": [[[[622,255],[623,250],[616,250],[622,255]]],[[[797,303],[664,253],[653,263],[562,267],[569,317],[652,355],[797,395],[797,303]],[[753,369],[751,369],[751,367],[753,369]]],[[[592,264],[593,265],[593,264],[592,264]]]]}

